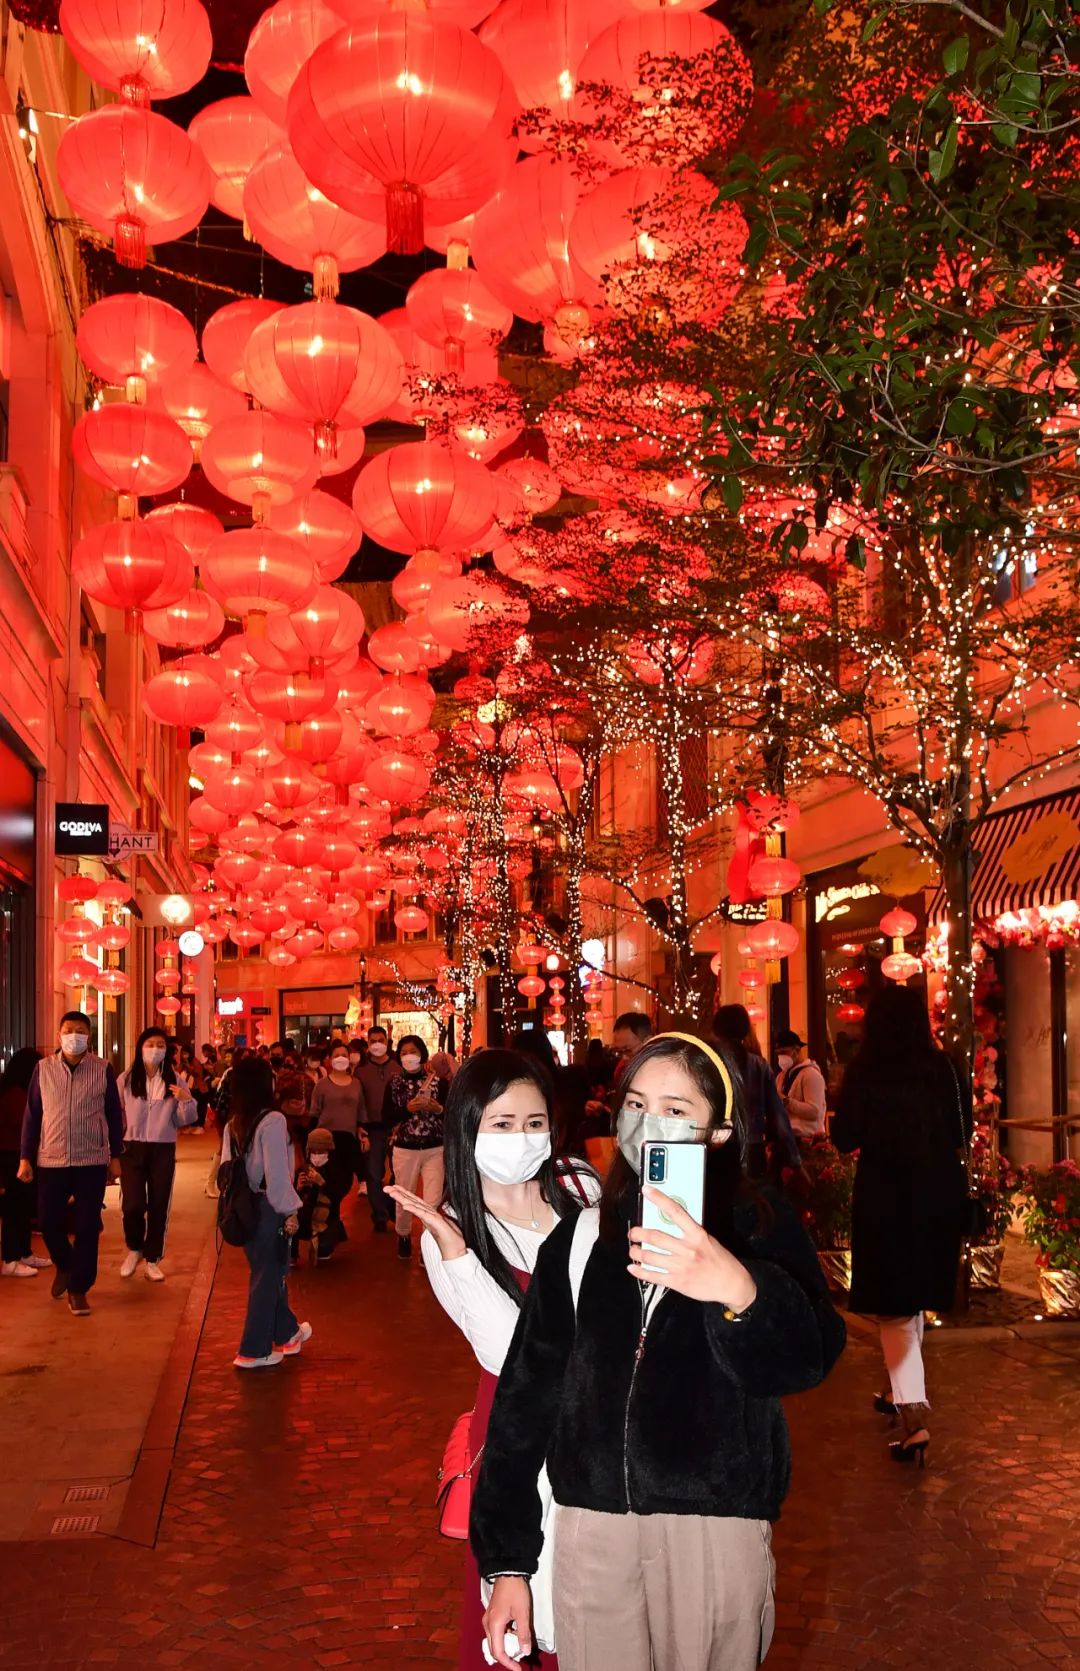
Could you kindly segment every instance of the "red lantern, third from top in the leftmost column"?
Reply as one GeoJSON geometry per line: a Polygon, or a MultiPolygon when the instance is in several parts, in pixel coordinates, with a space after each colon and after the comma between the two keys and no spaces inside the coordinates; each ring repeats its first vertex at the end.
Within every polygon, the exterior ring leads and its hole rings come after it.
{"type": "Polygon", "coordinates": [[[94,302],[79,321],[79,353],[89,371],[142,403],[147,386],[184,371],[196,358],[196,333],[157,296],[117,294],[94,302]]]}

